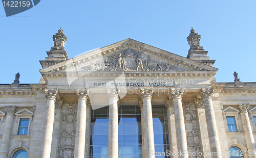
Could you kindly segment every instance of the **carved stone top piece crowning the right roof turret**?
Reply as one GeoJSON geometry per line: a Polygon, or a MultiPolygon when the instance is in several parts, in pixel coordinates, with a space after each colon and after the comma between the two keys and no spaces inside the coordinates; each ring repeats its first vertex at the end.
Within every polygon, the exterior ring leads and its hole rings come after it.
{"type": "Polygon", "coordinates": [[[190,46],[189,50],[203,50],[203,47],[200,46],[200,40],[201,40],[201,35],[198,35],[196,31],[191,28],[190,34],[187,37],[187,42],[190,46]]]}

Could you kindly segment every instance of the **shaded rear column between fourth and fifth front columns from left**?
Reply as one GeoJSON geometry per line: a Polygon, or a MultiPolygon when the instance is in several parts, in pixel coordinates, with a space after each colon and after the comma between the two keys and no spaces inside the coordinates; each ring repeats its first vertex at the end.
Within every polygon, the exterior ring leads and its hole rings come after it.
{"type": "MultiPolygon", "coordinates": [[[[166,107],[166,111],[167,111],[167,122],[168,122],[168,131],[169,131],[170,150],[174,153],[177,153],[178,148],[177,148],[177,137],[176,137],[173,100],[172,99],[166,99],[165,107],[166,107]]],[[[178,155],[173,155],[173,157],[178,158],[178,155]]]]}

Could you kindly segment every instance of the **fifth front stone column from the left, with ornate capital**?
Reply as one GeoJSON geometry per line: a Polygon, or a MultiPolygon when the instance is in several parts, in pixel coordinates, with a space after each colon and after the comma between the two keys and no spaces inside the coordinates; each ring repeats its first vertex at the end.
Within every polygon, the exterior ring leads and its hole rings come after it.
{"type": "Polygon", "coordinates": [[[170,90],[170,97],[174,101],[174,115],[175,115],[175,125],[176,125],[176,135],[177,135],[177,145],[178,152],[183,153],[180,154],[181,158],[188,158],[187,151],[187,138],[186,138],[186,128],[184,122],[184,114],[182,108],[182,96],[183,96],[184,88],[172,88],[170,90]]]}

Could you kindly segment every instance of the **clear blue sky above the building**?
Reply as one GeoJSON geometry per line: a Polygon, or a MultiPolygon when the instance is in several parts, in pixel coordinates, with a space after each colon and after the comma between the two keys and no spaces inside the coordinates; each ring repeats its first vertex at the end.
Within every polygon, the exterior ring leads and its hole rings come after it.
{"type": "Polygon", "coordinates": [[[46,1],[6,17],[0,5],[0,84],[39,83],[52,35],[68,37],[69,59],[121,40],[134,40],[186,57],[191,27],[219,68],[217,82],[256,82],[256,1],[46,1]]]}

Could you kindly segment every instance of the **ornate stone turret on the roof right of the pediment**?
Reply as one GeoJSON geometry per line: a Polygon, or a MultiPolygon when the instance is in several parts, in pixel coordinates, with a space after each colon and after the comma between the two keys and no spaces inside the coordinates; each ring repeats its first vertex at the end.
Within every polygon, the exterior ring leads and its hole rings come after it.
{"type": "Polygon", "coordinates": [[[209,66],[213,66],[215,60],[210,60],[209,57],[206,56],[208,51],[205,51],[203,47],[200,46],[200,40],[201,35],[198,35],[198,33],[196,33],[196,31],[192,28],[190,30],[189,36],[187,37],[187,42],[190,46],[187,58],[209,66]]]}

